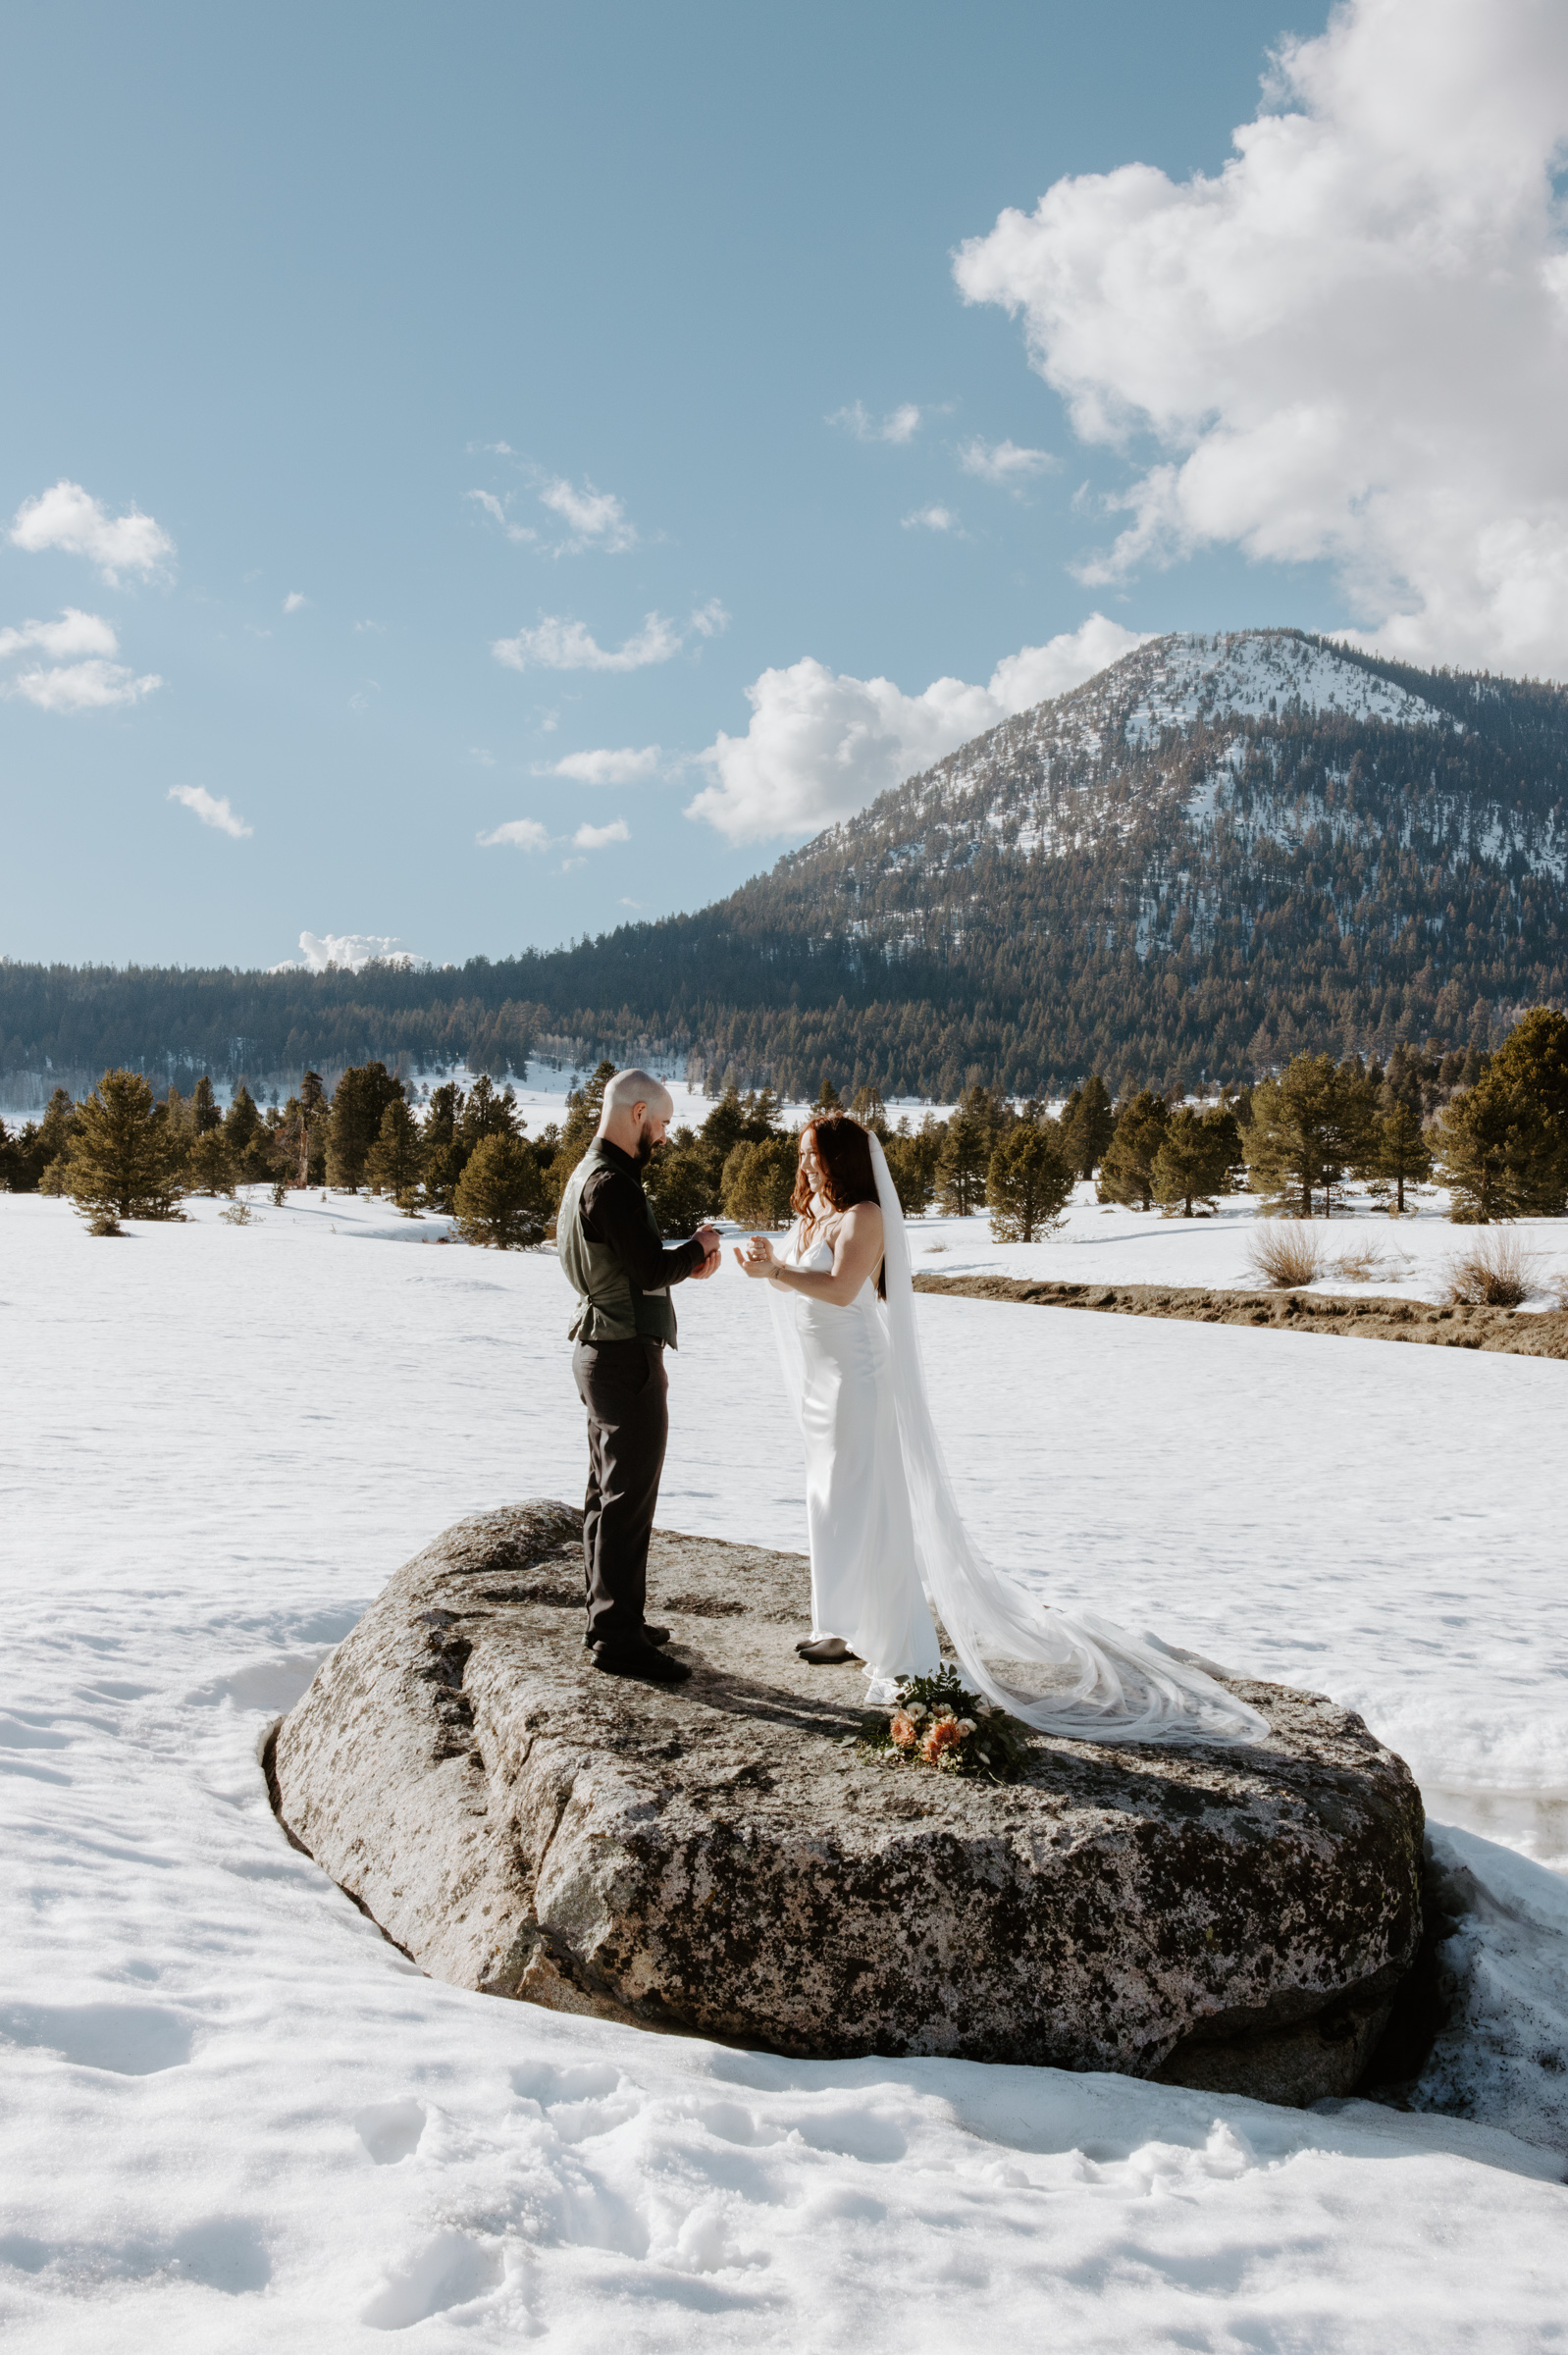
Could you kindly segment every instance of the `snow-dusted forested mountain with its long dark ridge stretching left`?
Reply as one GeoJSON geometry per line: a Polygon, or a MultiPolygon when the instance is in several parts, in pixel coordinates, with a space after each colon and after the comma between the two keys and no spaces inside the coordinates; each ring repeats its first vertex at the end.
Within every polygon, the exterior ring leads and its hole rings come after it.
{"type": "Polygon", "coordinates": [[[1563,688],[1290,629],[1168,636],[690,916],[440,973],[0,966],[0,1069],[54,1036],[57,1064],[252,1074],[532,1043],[789,1093],[824,1067],[888,1095],[1191,1086],[1300,1048],[1490,1043],[1563,1003],[1566,876],[1563,688]]]}

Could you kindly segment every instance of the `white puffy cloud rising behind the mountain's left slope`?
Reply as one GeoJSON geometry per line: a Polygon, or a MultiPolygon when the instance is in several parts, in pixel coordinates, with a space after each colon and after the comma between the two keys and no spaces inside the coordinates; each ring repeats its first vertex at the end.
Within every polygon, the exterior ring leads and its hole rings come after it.
{"type": "Polygon", "coordinates": [[[937,678],[923,695],[904,695],[890,678],[836,676],[810,655],[786,671],[763,671],[746,688],[746,735],[720,735],[697,756],[713,782],[685,815],[706,817],[732,843],[817,834],[1142,643],[1137,631],[1095,612],[1081,629],[1008,655],[986,688],[937,678]]]}

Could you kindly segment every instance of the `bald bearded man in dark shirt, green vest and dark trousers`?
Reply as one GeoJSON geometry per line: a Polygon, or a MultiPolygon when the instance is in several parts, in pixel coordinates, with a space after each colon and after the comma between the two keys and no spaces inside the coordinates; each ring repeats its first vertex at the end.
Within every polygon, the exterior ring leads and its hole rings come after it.
{"type": "Polygon", "coordinates": [[[669,1088],[650,1072],[617,1072],[556,1220],[560,1265],[582,1302],[572,1321],[572,1375],[589,1408],[586,1644],[607,1677],[647,1684],[685,1684],[692,1674],[659,1648],[669,1627],[643,1618],[669,1439],[664,1349],[676,1347],[669,1288],[718,1267],[718,1227],[699,1227],[690,1243],[666,1248],[643,1192],[647,1156],[664,1142],[673,1109],[669,1088]]]}

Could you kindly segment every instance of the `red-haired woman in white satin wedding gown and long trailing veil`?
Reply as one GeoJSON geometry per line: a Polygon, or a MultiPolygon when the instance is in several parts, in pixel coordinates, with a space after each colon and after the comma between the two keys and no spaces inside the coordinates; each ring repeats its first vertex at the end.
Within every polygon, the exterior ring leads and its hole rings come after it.
{"type": "Polygon", "coordinates": [[[1269,1726],[1189,1656],[1069,1618],[972,1545],[925,1399],[904,1213],[878,1137],[843,1112],[800,1130],[784,1253],[765,1281],[805,1439],[812,1632],[805,1660],[859,1658],[873,1705],[942,1665],[932,1606],[977,1693],[1081,1740],[1260,1740],[1269,1726]]]}

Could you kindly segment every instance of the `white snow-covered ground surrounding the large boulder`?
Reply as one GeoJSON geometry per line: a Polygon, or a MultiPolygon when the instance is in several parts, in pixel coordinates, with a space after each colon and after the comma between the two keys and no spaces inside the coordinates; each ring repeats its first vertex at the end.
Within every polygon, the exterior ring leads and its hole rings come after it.
{"type": "MultiPolygon", "coordinates": [[[[1401,1248],[1427,1227],[1460,1239],[1410,1220],[1401,1248]]],[[[808,2065],[436,1985],[268,1813],[259,1736],[388,1571],[466,1512],[582,1488],[553,1258],[440,1232],[259,1194],[250,1227],[193,1203],[94,1241],[0,1196],[14,2346],[1568,2339],[1563,1366],[921,1302],[998,1559],[1328,1691],[1413,1762],[1471,1903],[1443,2082],[1493,2124],[808,2065]]],[[[1029,1251],[984,1220],[921,1243],[932,1269],[1182,1283],[1241,1281],[1245,1251],[1229,1210],[1095,1206],[1029,1251]]],[[[800,1545],[763,1302],[730,1269],[680,1319],[662,1519],[800,1545]]]]}

